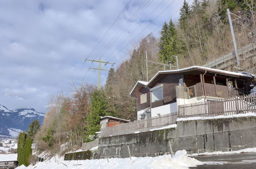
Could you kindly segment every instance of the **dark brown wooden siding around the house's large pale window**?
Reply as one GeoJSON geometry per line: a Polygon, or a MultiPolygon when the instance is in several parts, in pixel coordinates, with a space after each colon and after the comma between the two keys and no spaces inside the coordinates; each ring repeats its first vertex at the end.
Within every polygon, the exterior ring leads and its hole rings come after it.
{"type": "Polygon", "coordinates": [[[181,73],[169,74],[163,76],[157,83],[155,83],[154,87],[163,84],[163,101],[153,102],[152,108],[173,102],[176,98],[175,86],[179,86],[179,79],[181,78],[183,78],[183,74],[181,73]]]}

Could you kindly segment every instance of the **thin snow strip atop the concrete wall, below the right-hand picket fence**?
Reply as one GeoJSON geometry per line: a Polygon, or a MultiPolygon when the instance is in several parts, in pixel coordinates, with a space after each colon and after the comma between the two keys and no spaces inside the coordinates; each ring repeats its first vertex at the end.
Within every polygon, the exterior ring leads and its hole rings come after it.
{"type": "Polygon", "coordinates": [[[220,115],[214,117],[188,117],[178,118],[177,121],[189,121],[189,120],[209,120],[209,119],[220,119],[220,118],[235,118],[235,117],[255,117],[256,113],[245,113],[245,114],[234,114],[234,115],[220,115]]]}

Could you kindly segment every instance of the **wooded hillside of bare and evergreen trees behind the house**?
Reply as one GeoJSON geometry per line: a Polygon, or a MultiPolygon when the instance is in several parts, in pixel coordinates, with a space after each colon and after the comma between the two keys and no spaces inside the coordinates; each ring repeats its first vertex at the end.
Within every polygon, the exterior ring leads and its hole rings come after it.
{"type": "MultiPolygon", "coordinates": [[[[136,100],[129,93],[137,80],[147,81],[146,51],[149,60],[165,64],[171,60],[173,66],[176,60],[170,56],[176,55],[180,68],[202,66],[232,52],[227,8],[239,16],[233,21],[238,48],[251,43],[256,33],[255,1],[193,0],[191,5],[184,1],[179,20],[165,22],[160,38],[150,33],[133,44],[127,51],[129,58],[116,69],[111,68],[100,90],[81,83],[72,86],[72,94],[63,92],[49,100],[49,112],[34,137],[38,150],[80,149],[83,142],[92,141],[92,135],[100,131],[102,116],[135,120],[136,100]]],[[[163,69],[163,66],[149,64],[148,78],[163,69]]]]}

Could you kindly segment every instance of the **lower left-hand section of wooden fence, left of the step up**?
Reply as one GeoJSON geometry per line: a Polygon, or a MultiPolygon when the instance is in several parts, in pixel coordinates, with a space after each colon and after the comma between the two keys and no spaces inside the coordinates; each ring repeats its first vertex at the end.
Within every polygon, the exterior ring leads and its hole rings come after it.
{"type": "Polygon", "coordinates": [[[162,128],[164,126],[176,123],[178,113],[170,113],[140,121],[132,121],[109,128],[101,129],[101,137],[116,136],[123,134],[132,134],[136,132],[147,132],[151,129],[162,128]]]}

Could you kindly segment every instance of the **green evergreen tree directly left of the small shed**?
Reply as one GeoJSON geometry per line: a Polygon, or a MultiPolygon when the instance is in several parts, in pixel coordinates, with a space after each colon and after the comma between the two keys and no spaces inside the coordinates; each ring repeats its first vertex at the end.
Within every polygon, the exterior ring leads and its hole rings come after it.
{"type": "Polygon", "coordinates": [[[95,90],[91,95],[91,111],[86,117],[86,142],[91,141],[89,135],[95,135],[100,131],[101,116],[107,115],[108,101],[103,90],[95,90]]]}

